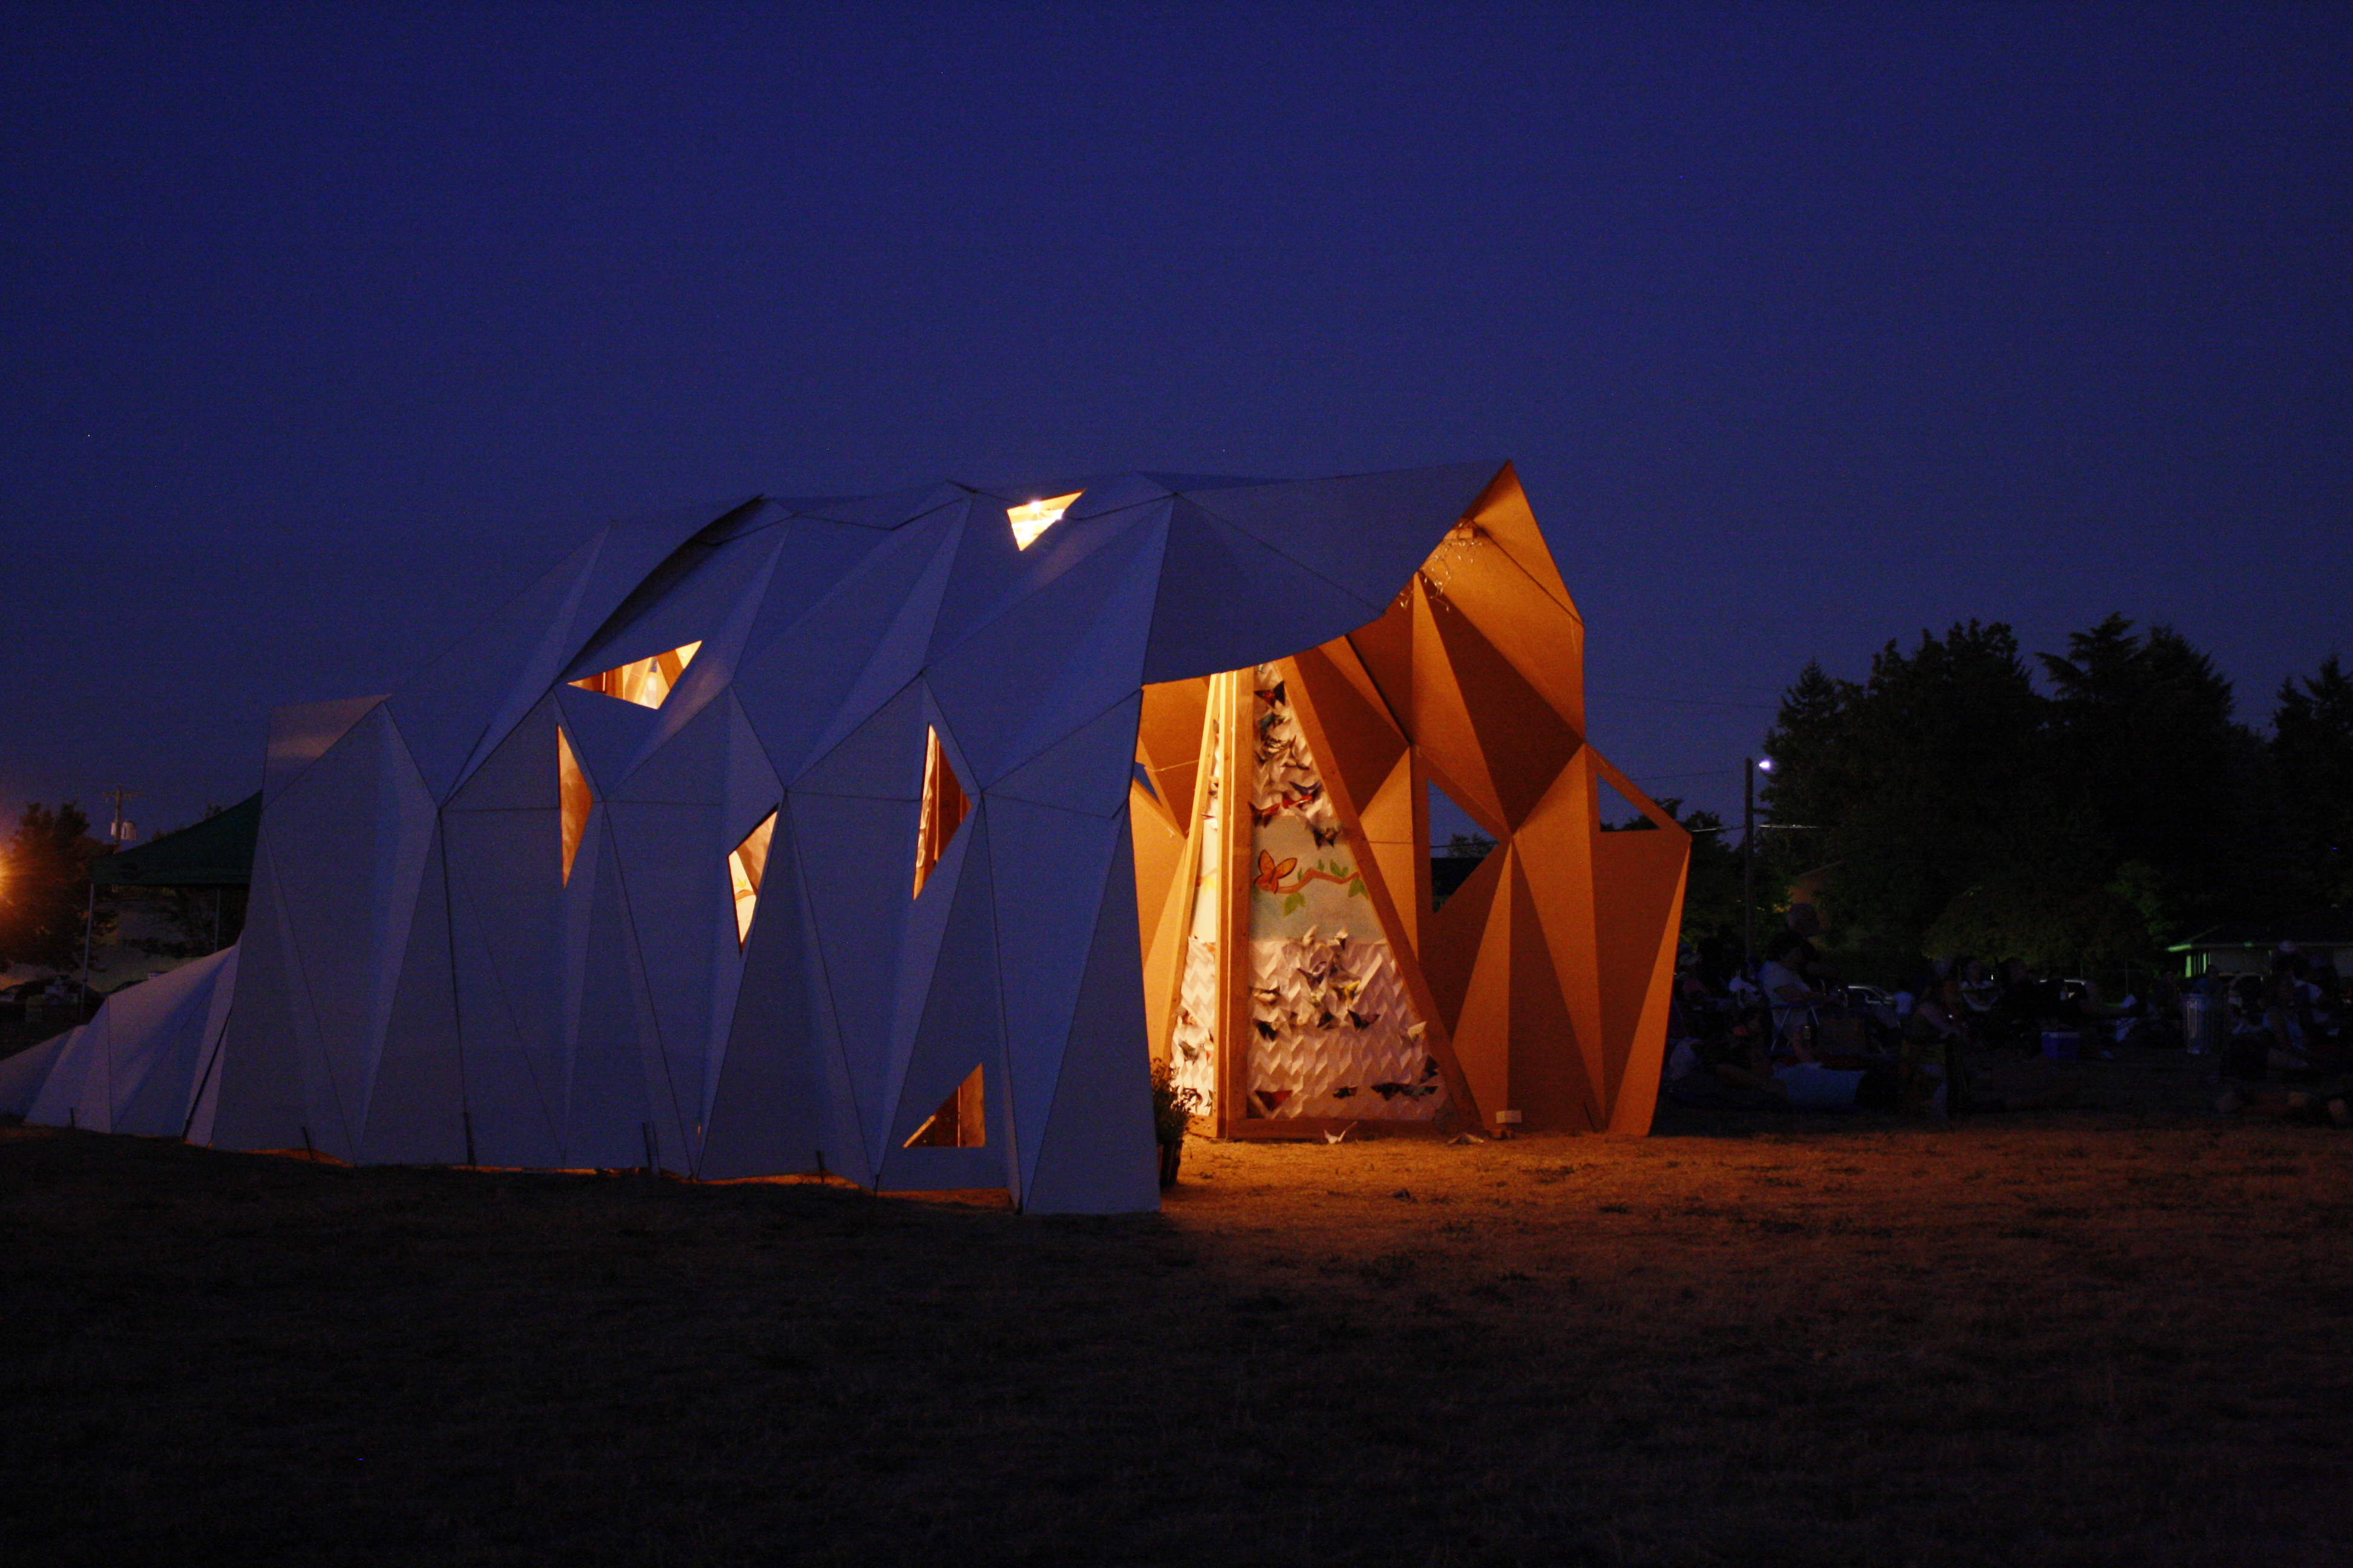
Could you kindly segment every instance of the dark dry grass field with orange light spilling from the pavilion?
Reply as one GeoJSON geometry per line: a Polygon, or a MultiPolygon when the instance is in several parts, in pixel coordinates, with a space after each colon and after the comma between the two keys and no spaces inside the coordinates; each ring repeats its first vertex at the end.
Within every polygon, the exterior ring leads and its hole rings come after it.
{"type": "Polygon", "coordinates": [[[9,1126],[0,1542],[2353,1561],[2353,1133],[2101,1072],[1951,1128],[1195,1143],[1125,1220],[9,1126]]]}

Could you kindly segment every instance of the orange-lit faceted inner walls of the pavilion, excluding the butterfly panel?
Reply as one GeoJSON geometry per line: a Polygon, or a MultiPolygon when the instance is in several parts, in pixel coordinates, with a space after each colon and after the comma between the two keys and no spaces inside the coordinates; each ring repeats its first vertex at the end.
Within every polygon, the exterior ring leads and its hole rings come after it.
{"type": "MultiPolygon", "coordinates": [[[[1282,661],[1282,675],[1457,1107],[1428,1131],[1492,1128],[1499,1112],[1522,1128],[1647,1131],[1689,835],[1586,743],[1584,621],[1511,470],[1381,618],[1282,661]],[[1598,780],[1652,832],[1602,832],[1598,780]],[[1497,839],[1435,912],[1433,785],[1497,839]]],[[[1214,1131],[1299,1138],[1325,1121],[1252,1117],[1235,1048],[1252,1030],[1254,719],[1252,672],[1146,689],[1136,762],[1153,790],[1129,797],[1146,1016],[1167,1060],[1193,886],[1214,856],[1214,1131]],[[1214,844],[1209,745],[1233,795],[1214,844]]]]}

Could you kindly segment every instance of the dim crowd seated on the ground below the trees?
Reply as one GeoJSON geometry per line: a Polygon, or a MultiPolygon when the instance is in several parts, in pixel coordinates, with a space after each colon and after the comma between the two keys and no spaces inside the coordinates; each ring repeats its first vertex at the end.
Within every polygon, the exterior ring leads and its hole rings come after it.
{"type": "MultiPolygon", "coordinates": [[[[1812,910],[1791,910],[1755,973],[1741,945],[1685,945],[1668,1013],[1664,1091],[1682,1105],[1751,1110],[1899,1110],[1925,1117],[2071,1105],[2064,1063],[2125,1048],[2184,1046],[2181,992],[2155,980],[2118,1004],[2082,980],[2038,976],[2019,959],[1929,964],[1887,994],[1849,987],[1824,966],[1812,910]]],[[[2217,990],[2202,980],[2193,990],[2217,990]]],[[[2282,950],[2268,976],[2228,985],[2231,1079],[2221,1112],[2353,1126],[2353,1018],[2337,971],[2282,950]]]]}

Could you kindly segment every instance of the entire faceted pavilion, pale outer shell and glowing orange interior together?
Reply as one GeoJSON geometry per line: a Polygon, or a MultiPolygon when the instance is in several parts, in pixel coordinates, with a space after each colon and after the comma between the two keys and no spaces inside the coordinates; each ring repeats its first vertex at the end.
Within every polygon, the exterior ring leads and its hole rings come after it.
{"type": "Polygon", "coordinates": [[[1158,1204],[1153,1058],[1228,1135],[1645,1131],[1689,839],[1581,668],[1494,463],[612,524],[280,710],[235,1006],[87,1037],[219,1147],[1031,1211],[1158,1204]],[[1431,790],[1494,839],[1445,907],[1431,790]]]}

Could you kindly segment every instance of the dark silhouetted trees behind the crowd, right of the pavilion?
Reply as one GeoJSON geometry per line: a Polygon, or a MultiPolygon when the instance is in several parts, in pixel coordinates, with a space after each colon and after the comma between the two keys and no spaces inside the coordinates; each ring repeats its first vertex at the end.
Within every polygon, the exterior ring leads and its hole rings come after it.
{"type": "Polygon", "coordinates": [[[1760,816],[1791,827],[1758,853],[1819,882],[1849,947],[2153,961],[2353,905],[2353,677],[2332,654],[2268,717],[2169,625],[2108,616],[2033,661],[2000,621],[1920,632],[1781,693],[1760,816]]]}

